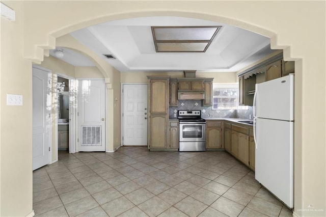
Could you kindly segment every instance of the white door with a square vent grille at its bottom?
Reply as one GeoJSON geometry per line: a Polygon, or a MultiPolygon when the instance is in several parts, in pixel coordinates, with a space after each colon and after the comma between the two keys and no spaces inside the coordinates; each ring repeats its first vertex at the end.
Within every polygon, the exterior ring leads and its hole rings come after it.
{"type": "Polygon", "coordinates": [[[78,80],[77,151],[105,151],[104,80],[78,80]]]}

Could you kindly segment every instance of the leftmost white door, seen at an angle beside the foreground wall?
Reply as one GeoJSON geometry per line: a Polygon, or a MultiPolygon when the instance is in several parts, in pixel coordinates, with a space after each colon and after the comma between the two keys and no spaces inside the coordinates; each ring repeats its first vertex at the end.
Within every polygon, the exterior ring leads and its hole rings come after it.
{"type": "Polygon", "coordinates": [[[50,90],[48,71],[33,67],[33,170],[50,160],[50,90]]]}

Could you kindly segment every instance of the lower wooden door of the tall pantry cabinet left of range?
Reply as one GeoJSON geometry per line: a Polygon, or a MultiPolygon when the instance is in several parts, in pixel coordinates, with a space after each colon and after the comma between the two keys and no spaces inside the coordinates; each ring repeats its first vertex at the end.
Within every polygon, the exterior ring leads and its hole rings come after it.
{"type": "Polygon", "coordinates": [[[167,116],[166,115],[151,115],[150,130],[149,130],[149,147],[152,149],[166,148],[167,144],[167,116]]]}

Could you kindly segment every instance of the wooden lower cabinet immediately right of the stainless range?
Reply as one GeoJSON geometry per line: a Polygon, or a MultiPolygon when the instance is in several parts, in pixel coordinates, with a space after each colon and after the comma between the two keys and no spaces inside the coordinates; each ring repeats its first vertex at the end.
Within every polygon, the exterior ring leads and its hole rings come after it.
{"type": "Polygon", "coordinates": [[[206,149],[223,148],[223,121],[206,120],[206,149]]]}

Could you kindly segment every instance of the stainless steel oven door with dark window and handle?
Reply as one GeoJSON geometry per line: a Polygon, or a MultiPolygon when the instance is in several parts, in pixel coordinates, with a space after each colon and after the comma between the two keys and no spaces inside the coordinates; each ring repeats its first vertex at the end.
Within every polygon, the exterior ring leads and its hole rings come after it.
{"type": "Polygon", "coordinates": [[[205,142],[205,123],[179,123],[179,142],[205,142]]]}

